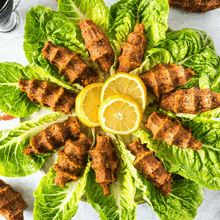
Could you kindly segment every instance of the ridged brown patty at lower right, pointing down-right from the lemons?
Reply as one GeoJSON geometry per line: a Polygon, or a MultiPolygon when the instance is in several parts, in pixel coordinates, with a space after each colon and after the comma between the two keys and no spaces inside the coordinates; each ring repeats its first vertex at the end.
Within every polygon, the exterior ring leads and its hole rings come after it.
{"type": "Polygon", "coordinates": [[[139,138],[127,147],[136,156],[134,167],[145,179],[155,185],[160,193],[168,196],[172,191],[173,180],[171,174],[166,172],[162,163],[156,159],[153,151],[149,150],[146,145],[142,145],[139,138]]]}

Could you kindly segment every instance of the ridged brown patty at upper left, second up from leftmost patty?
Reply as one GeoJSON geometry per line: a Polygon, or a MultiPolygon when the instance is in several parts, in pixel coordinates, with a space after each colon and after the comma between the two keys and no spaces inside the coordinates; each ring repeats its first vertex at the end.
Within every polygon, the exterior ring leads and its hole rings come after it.
{"type": "Polygon", "coordinates": [[[45,43],[42,53],[45,59],[59,68],[59,74],[67,76],[71,83],[76,82],[87,86],[97,79],[97,75],[92,73],[77,53],[58,47],[50,41],[45,43]]]}

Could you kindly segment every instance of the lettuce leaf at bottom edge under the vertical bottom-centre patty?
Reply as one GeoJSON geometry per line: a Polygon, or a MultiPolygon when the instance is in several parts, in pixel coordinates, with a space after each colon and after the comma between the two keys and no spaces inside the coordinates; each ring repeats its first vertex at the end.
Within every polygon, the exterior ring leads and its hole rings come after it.
{"type": "Polygon", "coordinates": [[[118,180],[111,184],[111,195],[104,196],[95,182],[95,173],[90,171],[86,184],[88,202],[99,213],[101,220],[134,220],[137,204],[134,201],[135,186],[126,167],[118,167],[118,180]]]}

